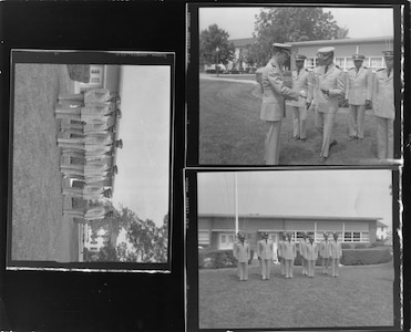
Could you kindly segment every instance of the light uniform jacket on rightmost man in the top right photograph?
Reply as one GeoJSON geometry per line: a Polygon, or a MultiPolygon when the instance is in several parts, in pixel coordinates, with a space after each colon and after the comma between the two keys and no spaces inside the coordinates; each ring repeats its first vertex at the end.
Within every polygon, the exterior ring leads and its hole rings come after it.
{"type": "Polygon", "coordinates": [[[372,85],[372,108],[376,116],[395,117],[393,70],[390,76],[387,75],[387,69],[376,73],[372,85]]]}

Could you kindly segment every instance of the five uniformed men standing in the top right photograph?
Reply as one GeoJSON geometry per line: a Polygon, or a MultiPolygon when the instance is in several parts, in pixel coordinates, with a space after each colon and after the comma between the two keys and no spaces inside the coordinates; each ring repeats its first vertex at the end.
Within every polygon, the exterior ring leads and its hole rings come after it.
{"type": "Polygon", "coordinates": [[[362,66],[364,55],[353,54],[355,68],[347,75],[333,63],[335,48],[321,48],[317,52],[318,66],[312,71],[304,68],[306,56],[296,54],[296,69],[292,71],[292,89],[285,84],[282,65],[290,56],[288,44],[275,43],[273,58],[263,71],[263,103],[260,118],[268,125],[265,141],[265,162],[278,165],[280,151],[281,122],[286,104],[291,107],[294,139],[306,142],[307,112],[314,110],[317,129],[322,135],[319,163],[325,163],[330,148],[337,144],[332,139],[332,127],[345,98],[350,105],[349,141],[362,139],[366,107],[373,108],[377,123],[377,147],[379,159],[393,158],[393,51],[384,51],[387,69],[379,70],[374,79],[369,69],[362,66]]]}

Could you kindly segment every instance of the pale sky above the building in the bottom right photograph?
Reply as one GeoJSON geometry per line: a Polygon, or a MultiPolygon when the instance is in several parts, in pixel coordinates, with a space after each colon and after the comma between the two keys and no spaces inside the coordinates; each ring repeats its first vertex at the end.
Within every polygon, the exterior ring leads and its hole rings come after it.
{"type": "MultiPolygon", "coordinates": [[[[391,170],[237,173],[238,214],[381,217],[392,229],[391,170]]],[[[235,173],[199,173],[198,214],[235,216],[235,173]]]]}

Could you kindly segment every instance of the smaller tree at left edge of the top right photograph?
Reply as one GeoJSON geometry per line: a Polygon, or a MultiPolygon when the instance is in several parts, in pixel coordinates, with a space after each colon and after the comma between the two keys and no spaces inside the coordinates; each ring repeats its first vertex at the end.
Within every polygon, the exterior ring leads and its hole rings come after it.
{"type": "Polygon", "coordinates": [[[217,62],[218,46],[218,63],[227,64],[234,58],[234,44],[228,42],[229,34],[217,24],[212,24],[208,29],[199,33],[199,63],[215,64],[217,62]]]}

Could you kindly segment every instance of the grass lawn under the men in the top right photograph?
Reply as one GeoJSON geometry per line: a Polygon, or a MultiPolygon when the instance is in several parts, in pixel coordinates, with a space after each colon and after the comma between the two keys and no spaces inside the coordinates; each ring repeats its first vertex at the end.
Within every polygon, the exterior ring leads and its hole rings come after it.
{"type": "MultiPolygon", "coordinates": [[[[201,80],[199,149],[202,165],[263,165],[266,124],[259,118],[259,85],[201,80]]],[[[336,116],[332,137],[338,144],[330,149],[327,165],[374,165],[377,157],[376,124],[372,110],[366,112],[364,138],[349,142],[348,110],[336,116]]],[[[287,107],[281,127],[280,165],[318,165],[322,137],[315,127],[314,113],[307,118],[307,142],[292,139],[292,117],[287,107]]]]}

